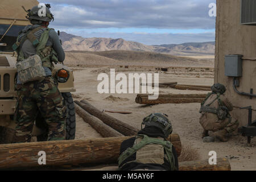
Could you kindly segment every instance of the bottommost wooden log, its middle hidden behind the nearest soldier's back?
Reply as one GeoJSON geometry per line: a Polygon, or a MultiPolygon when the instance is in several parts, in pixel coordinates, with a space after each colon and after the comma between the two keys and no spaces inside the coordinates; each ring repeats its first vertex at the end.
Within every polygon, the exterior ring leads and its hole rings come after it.
{"type": "MultiPolygon", "coordinates": [[[[193,160],[180,162],[179,171],[230,171],[230,163],[225,158],[217,158],[216,165],[210,165],[208,160],[193,160]]],[[[79,171],[118,171],[118,166],[105,166],[101,168],[86,169],[80,168],[79,171]]]]}

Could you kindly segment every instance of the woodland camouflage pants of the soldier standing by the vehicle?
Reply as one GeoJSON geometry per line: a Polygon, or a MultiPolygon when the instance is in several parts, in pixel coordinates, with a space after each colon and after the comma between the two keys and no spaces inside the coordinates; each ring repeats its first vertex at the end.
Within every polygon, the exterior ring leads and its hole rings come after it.
{"type": "Polygon", "coordinates": [[[37,114],[48,126],[48,140],[65,139],[67,108],[52,77],[17,85],[18,101],[15,111],[17,123],[14,143],[30,142],[37,114]]]}

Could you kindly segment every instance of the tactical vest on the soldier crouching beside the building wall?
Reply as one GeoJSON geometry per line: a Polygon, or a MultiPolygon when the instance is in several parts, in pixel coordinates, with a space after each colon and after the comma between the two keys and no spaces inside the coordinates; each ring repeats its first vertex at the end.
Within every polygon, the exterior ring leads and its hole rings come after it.
{"type": "Polygon", "coordinates": [[[223,104],[223,102],[221,101],[220,99],[220,93],[217,93],[216,94],[216,98],[210,102],[209,104],[207,105],[204,105],[205,102],[208,100],[208,98],[210,96],[212,96],[213,93],[208,93],[207,97],[205,98],[205,100],[201,103],[201,107],[200,107],[200,113],[202,112],[208,112],[208,113],[213,113],[213,114],[217,114],[217,117],[219,119],[225,119],[225,118],[230,118],[230,114],[229,114],[229,111],[228,111],[228,108],[223,104]],[[210,107],[210,105],[213,104],[214,101],[218,101],[218,107],[215,108],[215,107],[210,107]]]}

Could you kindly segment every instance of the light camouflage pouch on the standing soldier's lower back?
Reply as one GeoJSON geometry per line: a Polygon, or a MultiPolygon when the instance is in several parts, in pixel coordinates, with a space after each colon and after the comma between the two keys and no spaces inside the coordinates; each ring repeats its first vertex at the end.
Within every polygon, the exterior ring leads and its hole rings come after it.
{"type": "Polygon", "coordinates": [[[46,77],[46,72],[38,55],[33,55],[23,61],[19,61],[16,63],[16,68],[18,69],[19,80],[22,84],[29,81],[42,80],[42,78],[46,77]]]}

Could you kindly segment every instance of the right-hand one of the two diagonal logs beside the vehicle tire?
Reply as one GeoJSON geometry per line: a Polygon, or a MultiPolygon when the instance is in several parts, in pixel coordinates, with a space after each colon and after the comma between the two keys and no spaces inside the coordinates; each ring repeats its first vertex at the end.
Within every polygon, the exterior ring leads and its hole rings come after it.
{"type": "Polygon", "coordinates": [[[88,113],[94,115],[95,117],[101,119],[102,122],[104,122],[106,125],[109,125],[113,129],[117,130],[119,133],[125,135],[125,136],[133,136],[137,135],[139,129],[128,125],[125,122],[120,121],[119,119],[116,119],[106,113],[102,113],[100,110],[96,109],[96,107],[89,104],[89,102],[86,101],[75,101],[77,105],[82,107],[82,109],[88,111],[88,113]],[[87,103],[87,104],[85,104],[87,103]]]}

